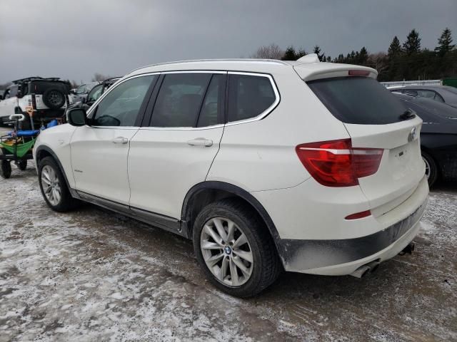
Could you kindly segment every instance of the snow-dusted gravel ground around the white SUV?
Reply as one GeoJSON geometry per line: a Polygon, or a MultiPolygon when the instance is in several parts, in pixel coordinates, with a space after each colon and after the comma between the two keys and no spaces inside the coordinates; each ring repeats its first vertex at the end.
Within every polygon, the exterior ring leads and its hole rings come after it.
{"type": "Polygon", "coordinates": [[[431,192],[413,255],[364,279],[283,274],[253,299],[209,284],[191,242],[86,205],[36,172],[0,179],[0,341],[457,341],[457,186],[431,192]]]}

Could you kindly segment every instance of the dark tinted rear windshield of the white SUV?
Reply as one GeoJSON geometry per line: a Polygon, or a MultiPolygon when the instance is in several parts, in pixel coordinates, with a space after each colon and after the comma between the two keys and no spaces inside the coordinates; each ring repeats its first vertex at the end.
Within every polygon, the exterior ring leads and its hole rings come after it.
{"type": "Polygon", "coordinates": [[[401,121],[407,109],[373,78],[324,78],[307,82],[328,110],[343,123],[385,125],[401,121]]]}

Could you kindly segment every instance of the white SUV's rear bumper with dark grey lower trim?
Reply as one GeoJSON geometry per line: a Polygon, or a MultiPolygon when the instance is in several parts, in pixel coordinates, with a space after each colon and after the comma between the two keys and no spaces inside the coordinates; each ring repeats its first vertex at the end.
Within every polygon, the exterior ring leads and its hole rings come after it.
{"type": "Polygon", "coordinates": [[[351,274],[370,261],[394,257],[416,236],[426,209],[428,187],[421,181],[416,191],[392,212],[392,224],[363,237],[349,239],[278,239],[276,245],[286,271],[310,274],[351,274]]]}

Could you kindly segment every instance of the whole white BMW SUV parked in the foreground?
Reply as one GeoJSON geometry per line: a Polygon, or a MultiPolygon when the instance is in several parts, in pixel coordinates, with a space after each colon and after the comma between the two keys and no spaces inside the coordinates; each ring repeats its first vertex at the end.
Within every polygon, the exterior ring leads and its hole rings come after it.
{"type": "Polygon", "coordinates": [[[39,135],[46,203],[83,200],[194,241],[215,286],[361,276],[420,229],[422,120],[363,66],[215,60],[137,69],[39,135]]]}

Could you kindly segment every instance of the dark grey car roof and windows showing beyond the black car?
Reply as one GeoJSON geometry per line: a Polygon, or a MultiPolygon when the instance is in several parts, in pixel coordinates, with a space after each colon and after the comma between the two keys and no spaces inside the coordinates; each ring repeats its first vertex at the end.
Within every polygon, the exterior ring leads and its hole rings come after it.
{"type": "Polygon", "coordinates": [[[402,86],[389,88],[388,90],[414,98],[428,98],[457,108],[457,88],[449,86],[402,86]]]}

